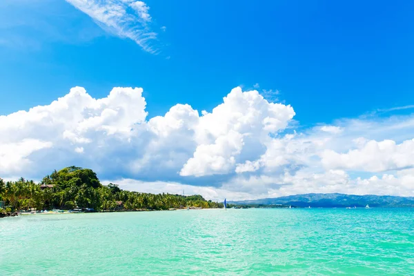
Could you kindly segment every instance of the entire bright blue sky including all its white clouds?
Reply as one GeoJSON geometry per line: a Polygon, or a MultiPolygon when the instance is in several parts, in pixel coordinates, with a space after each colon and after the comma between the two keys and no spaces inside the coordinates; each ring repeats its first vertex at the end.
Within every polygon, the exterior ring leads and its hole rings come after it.
{"type": "Polygon", "coordinates": [[[0,177],[414,196],[413,1],[0,1],[0,177]]]}

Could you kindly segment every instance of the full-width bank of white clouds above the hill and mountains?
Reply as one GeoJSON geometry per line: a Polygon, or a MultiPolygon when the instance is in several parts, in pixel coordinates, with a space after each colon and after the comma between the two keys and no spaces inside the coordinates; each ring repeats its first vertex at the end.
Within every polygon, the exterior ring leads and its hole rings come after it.
{"type": "Polygon", "coordinates": [[[130,190],[208,199],[414,195],[412,116],[297,132],[293,107],[257,90],[234,88],[211,112],[177,104],[152,118],[142,92],[113,88],[94,99],[75,87],[48,106],[0,116],[0,177],[39,179],[77,165],[130,190]]]}

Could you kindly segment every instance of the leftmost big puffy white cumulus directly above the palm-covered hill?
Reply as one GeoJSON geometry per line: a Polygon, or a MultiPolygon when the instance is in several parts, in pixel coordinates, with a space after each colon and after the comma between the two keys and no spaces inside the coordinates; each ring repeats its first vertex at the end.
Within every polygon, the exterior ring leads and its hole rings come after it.
{"type": "MultiPolygon", "coordinates": [[[[141,88],[113,88],[108,97],[93,99],[76,87],[48,106],[0,116],[0,172],[44,172],[94,159],[99,164],[105,162],[102,157],[121,153],[131,139],[131,127],[146,119],[141,92],[141,88]],[[83,151],[89,160],[79,159],[83,151]]],[[[116,163],[112,160],[112,166],[116,163]]]]}

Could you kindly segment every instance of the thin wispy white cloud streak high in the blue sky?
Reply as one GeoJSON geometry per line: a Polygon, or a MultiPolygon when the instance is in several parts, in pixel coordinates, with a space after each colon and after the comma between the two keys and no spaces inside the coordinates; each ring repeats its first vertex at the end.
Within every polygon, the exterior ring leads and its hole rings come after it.
{"type": "Polygon", "coordinates": [[[157,53],[150,41],[157,33],[150,30],[149,7],[134,0],[66,0],[81,12],[88,14],[104,30],[118,37],[132,39],[141,48],[157,53]],[[132,9],[134,12],[130,12],[132,9]]]}

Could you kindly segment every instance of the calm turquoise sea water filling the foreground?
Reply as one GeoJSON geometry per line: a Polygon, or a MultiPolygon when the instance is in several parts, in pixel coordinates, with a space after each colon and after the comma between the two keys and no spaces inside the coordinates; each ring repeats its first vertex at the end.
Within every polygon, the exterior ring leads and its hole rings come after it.
{"type": "Polygon", "coordinates": [[[414,209],[10,217],[0,275],[414,275],[414,209]]]}

